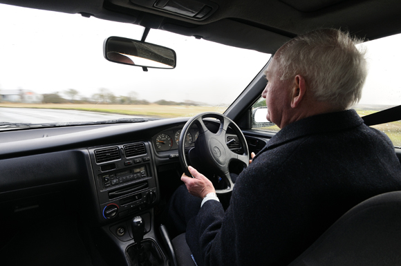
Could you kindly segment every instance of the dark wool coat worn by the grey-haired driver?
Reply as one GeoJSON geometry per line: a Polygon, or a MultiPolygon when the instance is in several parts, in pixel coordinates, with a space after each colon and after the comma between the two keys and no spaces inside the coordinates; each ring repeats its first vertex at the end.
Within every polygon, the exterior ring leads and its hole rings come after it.
{"type": "Polygon", "coordinates": [[[236,180],[230,207],[209,200],[187,225],[198,265],[288,265],[348,209],[401,190],[386,135],[353,110],[307,117],[272,137],[236,180]]]}

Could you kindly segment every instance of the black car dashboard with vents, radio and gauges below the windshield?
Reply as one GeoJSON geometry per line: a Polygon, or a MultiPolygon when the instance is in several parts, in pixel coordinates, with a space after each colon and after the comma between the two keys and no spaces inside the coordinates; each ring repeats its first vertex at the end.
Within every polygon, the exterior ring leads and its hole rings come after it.
{"type": "MultiPolygon", "coordinates": [[[[186,122],[182,117],[1,132],[0,222],[12,229],[0,247],[18,239],[20,225],[38,236],[56,228],[61,236],[64,228],[55,220],[68,220],[76,225],[72,236],[89,232],[96,248],[115,261],[133,243],[134,216],[142,217],[145,237],[159,243],[160,209],[182,184],[178,144],[186,122]],[[49,227],[36,227],[44,222],[49,227]]],[[[214,121],[205,126],[212,132],[219,128],[214,121]]],[[[189,129],[185,146],[194,147],[198,135],[196,126],[189,129]]],[[[240,151],[238,137],[230,130],[226,137],[229,148],[240,151]]],[[[256,143],[256,138],[248,142],[256,143]]]]}

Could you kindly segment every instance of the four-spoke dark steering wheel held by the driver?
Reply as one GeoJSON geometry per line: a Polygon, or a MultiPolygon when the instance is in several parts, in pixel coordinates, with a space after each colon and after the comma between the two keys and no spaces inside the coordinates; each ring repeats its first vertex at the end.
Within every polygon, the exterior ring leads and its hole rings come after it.
{"type": "Polygon", "coordinates": [[[187,158],[185,158],[185,137],[194,124],[198,126],[199,135],[195,141],[195,146],[188,153],[192,167],[198,169],[201,173],[218,175],[224,180],[227,187],[225,189],[216,189],[216,193],[222,194],[232,191],[234,183],[228,169],[230,163],[233,161],[243,162],[245,167],[248,167],[249,164],[248,145],[241,129],[239,129],[234,121],[220,113],[207,112],[192,117],[183,127],[178,142],[178,158],[187,176],[192,175],[188,171],[187,158]],[[216,133],[212,133],[205,126],[203,119],[207,117],[220,120],[220,128],[216,133]],[[234,153],[227,146],[225,134],[229,126],[239,138],[243,151],[242,154],[234,153]]]}

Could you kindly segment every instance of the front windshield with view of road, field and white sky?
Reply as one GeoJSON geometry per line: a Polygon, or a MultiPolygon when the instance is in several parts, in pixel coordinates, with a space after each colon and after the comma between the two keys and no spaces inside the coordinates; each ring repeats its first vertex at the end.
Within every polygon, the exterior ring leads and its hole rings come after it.
{"type": "Polygon", "coordinates": [[[0,21],[3,126],[223,113],[270,58],[150,30],[146,41],[175,50],[177,66],[144,72],[103,56],[104,39],[141,39],[141,26],[7,5],[0,21]]]}

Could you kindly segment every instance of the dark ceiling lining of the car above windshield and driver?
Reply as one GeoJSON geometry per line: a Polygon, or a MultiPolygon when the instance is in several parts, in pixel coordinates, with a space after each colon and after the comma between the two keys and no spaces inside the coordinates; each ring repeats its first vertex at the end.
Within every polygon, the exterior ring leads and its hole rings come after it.
{"type": "Polygon", "coordinates": [[[291,37],[318,28],[342,28],[366,40],[401,32],[399,0],[213,2],[218,6],[216,11],[206,19],[196,21],[127,0],[0,0],[0,3],[15,6],[82,13],[187,36],[197,35],[210,41],[263,53],[274,53],[291,37]]]}

